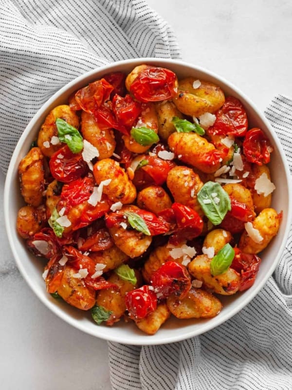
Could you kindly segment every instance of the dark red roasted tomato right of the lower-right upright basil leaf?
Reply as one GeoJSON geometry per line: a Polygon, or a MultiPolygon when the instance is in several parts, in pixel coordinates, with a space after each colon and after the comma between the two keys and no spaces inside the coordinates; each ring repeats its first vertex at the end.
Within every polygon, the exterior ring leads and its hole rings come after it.
{"type": "Polygon", "coordinates": [[[231,268],[241,274],[239,291],[249,289],[256,280],[261,259],[256,254],[242,253],[238,248],[231,264],[231,268]]]}

